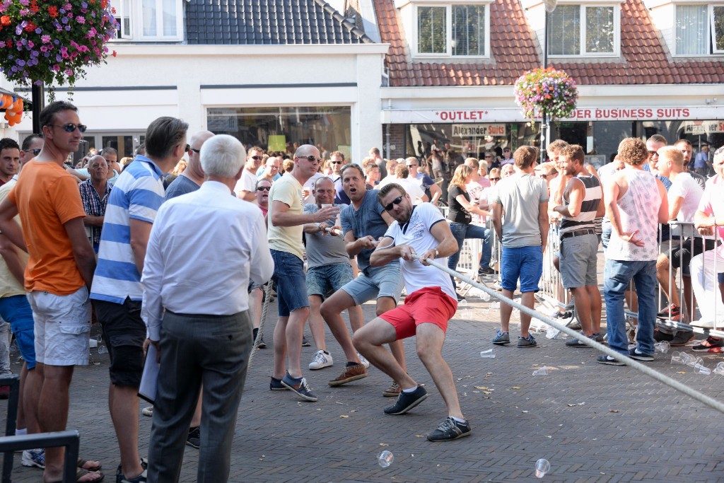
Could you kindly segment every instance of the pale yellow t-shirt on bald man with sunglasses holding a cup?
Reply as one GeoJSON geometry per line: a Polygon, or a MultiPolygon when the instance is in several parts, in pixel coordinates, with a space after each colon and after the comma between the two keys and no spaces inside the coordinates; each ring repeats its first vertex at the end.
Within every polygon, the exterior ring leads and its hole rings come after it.
{"type": "Polygon", "coordinates": [[[276,251],[286,251],[292,255],[304,259],[301,224],[295,227],[276,227],[271,222],[274,216],[274,201],[281,201],[289,206],[288,214],[300,215],[303,212],[302,206],[302,185],[292,175],[285,175],[279,178],[269,191],[269,248],[276,251]]]}

